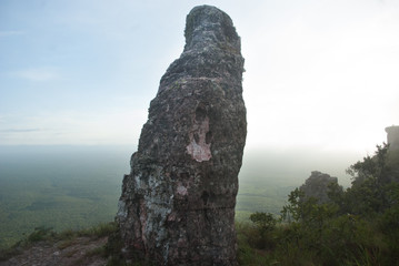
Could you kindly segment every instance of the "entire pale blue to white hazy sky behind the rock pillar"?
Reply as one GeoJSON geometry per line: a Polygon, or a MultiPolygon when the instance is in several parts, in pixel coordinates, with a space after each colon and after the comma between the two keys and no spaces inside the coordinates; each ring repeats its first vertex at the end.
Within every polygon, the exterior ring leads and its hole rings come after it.
{"type": "Polygon", "coordinates": [[[371,153],[399,124],[397,0],[1,0],[0,144],[137,143],[203,3],[241,37],[248,147],[371,153]]]}

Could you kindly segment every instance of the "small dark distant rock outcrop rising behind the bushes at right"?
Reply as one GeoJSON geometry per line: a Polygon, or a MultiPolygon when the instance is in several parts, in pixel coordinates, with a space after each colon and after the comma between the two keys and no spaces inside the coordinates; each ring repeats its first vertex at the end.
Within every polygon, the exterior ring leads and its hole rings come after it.
{"type": "Polygon", "coordinates": [[[331,183],[338,184],[338,178],[331,177],[329,174],[313,171],[299,190],[305,193],[305,197],[315,197],[318,200],[318,203],[321,204],[328,203],[330,202],[330,198],[328,197],[328,186],[331,183]]]}

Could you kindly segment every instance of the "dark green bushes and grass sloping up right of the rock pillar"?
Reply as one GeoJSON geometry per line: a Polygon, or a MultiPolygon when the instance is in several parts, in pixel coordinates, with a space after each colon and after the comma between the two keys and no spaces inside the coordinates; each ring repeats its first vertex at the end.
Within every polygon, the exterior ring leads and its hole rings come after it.
{"type": "Polygon", "coordinates": [[[387,145],[348,168],[351,187],[318,203],[299,188],[281,217],[238,224],[240,265],[399,265],[399,164],[387,145]]]}

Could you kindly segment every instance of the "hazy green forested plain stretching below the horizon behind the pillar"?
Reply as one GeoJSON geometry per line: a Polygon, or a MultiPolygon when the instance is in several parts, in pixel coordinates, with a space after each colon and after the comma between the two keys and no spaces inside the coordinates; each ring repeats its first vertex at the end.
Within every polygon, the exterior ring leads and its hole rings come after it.
{"type": "MultiPolygon", "coordinates": [[[[110,222],[134,145],[20,145],[0,147],[0,245],[38,226],[57,231],[110,222]]],[[[239,175],[237,218],[253,212],[279,214],[292,188],[321,171],[349,184],[348,154],[247,149],[239,175]]]]}

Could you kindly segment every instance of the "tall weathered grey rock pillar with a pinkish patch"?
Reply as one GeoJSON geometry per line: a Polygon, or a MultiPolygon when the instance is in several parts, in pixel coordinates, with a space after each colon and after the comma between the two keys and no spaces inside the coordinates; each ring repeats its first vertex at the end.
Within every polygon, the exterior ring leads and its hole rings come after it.
{"type": "Polygon", "coordinates": [[[209,6],[191,10],[184,35],[151,101],[117,221],[127,249],[159,265],[236,265],[247,134],[240,38],[209,6]]]}

